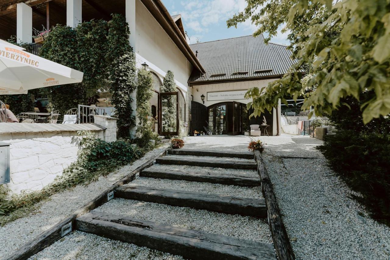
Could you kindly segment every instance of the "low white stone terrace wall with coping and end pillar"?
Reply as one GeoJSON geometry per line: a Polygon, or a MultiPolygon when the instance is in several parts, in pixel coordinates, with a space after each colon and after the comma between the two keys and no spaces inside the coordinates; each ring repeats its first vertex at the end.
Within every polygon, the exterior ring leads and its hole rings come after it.
{"type": "Polygon", "coordinates": [[[4,185],[18,194],[23,190],[41,190],[53,182],[76,160],[80,148],[79,130],[92,131],[108,142],[115,141],[116,119],[106,116],[96,119],[95,122],[102,127],[89,124],[0,123],[0,142],[10,144],[11,181],[4,185]]]}

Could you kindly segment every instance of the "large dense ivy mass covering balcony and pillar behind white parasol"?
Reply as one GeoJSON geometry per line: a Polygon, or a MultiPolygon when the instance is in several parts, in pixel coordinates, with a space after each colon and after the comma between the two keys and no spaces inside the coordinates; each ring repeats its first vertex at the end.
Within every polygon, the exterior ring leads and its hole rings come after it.
{"type": "Polygon", "coordinates": [[[110,89],[110,102],[117,109],[118,136],[128,136],[129,127],[135,125],[131,116],[131,96],[135,89],[135,58],[129,45],[126,18],[113,14],[112,20],[91,20],[76,28],[57,25],[51,28],[40,49],[40,55],[79,71],[83,82],[43,88],[52,109],[66,112],[78,104],[95,102],[98,89],[110,89]]]}

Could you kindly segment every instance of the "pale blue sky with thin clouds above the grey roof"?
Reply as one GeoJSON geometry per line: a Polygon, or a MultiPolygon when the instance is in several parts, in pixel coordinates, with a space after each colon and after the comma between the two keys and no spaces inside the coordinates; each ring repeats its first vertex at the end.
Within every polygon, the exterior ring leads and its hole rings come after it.
{"type": "MultiPolygon", "coordinates": [[[[256,27],[250,21],[227,28],[226,20],[246,7],[245,0],[163,0],[171,15],[181,14],[184,30],[191,43],[214,41],[252,34],[256,27]]],[[[279,33],[271,42],[288,45],[287,33],[279,33]]]]}

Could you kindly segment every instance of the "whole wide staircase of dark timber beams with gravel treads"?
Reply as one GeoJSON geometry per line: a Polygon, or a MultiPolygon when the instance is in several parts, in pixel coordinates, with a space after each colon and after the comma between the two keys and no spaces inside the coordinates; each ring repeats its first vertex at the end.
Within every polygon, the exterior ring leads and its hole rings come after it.
{"type": "Polygon", "coordinates": [[[253,153],[170,150],[136,180],[115,189],[115,199],[78,217],[76,229],[190,259],[277,259],[271,240],[261,238],[267,237],[261,232],[269,229],[259,231],[259,226],[268,224],[256,169],[253,153]],[[152,213],[137,212],[144,203],[150,203],[151,210],[165,205],[172,214],[151,221],[152,213]],[[193,218],[207,216],[207,212],[217,215],[215,219],[183,219],[183,207],[195,210],[193,218]],[[229,219],[232,214],[238,223],[249,221],[257,226],[249,228],[252,233],[245,224],[212,228],[213,221],[215,226],[221,225],[216,219],[229,219]],[[187,221],[211,222],[211,228],[201,224],[188,228],[187,221]],[[225,229],[235,232],[225,235],[225,229]]]}

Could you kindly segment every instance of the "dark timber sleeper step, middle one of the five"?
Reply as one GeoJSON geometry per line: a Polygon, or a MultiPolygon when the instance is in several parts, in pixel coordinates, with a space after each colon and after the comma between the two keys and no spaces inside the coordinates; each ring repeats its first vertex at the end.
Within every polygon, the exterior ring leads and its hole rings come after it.
{"type": "Polygon", "coordinates": [[[140,177],[169,179],[169,180],[186,180],[190,182],[209,182],[225,185],[237,185],[244,187],[261,186],[259,177],[248,177],[238,174],[224,174],[219,172],[195,172],[195,171],[178,171],[165,169],[144,169],[140,177]]]}

